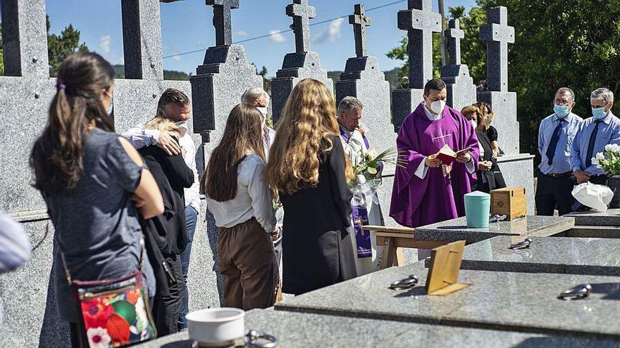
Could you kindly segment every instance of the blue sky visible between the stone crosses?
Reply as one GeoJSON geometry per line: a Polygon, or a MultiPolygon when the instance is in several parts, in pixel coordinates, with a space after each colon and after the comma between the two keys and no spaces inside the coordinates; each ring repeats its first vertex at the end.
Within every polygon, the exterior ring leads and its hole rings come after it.
{"type": "MultiPolygon", "coordinates": [[[[354,4],[363,2],[366,8],[381,6],[395,0],[310,0],[316,7],[318,22],[352,13],[354,4]]],[[[240,0],[241,8],[233,10],[233,41],[286,30],[292,19],[285,14],[290,0],[240,0]]],[[[433,0],[437,11],[437,1],[433,0]]],[[[475,0],[445,0],[448,6],[466,6],[475,0]]],[[[398,30],[397,11],[407,8],[407,1],[380,8],[368,13],[373,25],[368,28],[368,55],[376,56],[383,70],[397,66],[385,53],[397,46],[405,33],[398,30]]],[[[120,0],[47,0],[46,12],[51,21],[51,32],[58,33],[66,25],[73,24],[80,30],[81,41],[89,49],[101,53],[113,64],[123,63],[123,32],[120,0]]],[[[161,4],[161,34],[163,56],[205,49],[215,44],[211,20],[213,9],[204,0],[185,0],[161,4]]],[[[347,18],[311,27],[312,50],[321,56],[327,70],[344,70],[347,58],[354,56],[353,29],[347,18]]],[[[266,66],[268,76],[275,75],[286,53],[294,51],[292,32],[273,35],[243,44],[250,62],[257,67],[266,66]]],[[[163,60],[166,70],[195,72],[202,63],[204,51],[163,60]]]]}

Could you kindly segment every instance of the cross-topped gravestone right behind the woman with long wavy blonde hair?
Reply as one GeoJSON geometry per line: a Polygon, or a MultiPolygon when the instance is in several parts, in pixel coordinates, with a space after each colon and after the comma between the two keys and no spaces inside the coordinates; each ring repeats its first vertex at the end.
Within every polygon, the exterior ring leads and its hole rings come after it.
{"type": "Polygon", "coordinates": [[[295,53],[284,57],[282,69],[271,80],[271,112],[273,122],[278,122],[282,110],[293,87],[302,79],[316,79],[330,91],[334,84],[327,71],[321,67],[321,58],[310,51],[310,19],[316,17],[316,9],[309,6],[308,0],[293,0],[286,6],[286,15],[293,18],[295,34],[295,53]]]}

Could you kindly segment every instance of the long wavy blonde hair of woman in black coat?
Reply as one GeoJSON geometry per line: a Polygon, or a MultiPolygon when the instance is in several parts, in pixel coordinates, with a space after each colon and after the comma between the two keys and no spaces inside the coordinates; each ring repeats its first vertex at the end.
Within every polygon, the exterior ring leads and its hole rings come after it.
{"type": "MultiPolygon", "coordinates": [[[[329,89],[314,79],[304,79],[292,90],[275,129],[266,176],[271,188],[292,195],[318,183],[321,157],[339,136],[336,110],[329,89]]],[[[346,176],[353,171],[348,158],[346,176]]]]}

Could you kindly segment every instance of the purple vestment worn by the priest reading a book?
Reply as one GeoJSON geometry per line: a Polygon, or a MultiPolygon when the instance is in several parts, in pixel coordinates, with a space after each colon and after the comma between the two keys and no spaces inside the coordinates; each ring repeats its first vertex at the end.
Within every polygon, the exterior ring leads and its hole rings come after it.
{"type": "Polygon", "coordinates": [[[478,168],[478,138],[461,112],[445,107],[440,120],[430,121],[424,112],[425,103],[407,116],[396,141],[407,165],[397,167],[392,188],[390,217],[399,224],[419,227],[465,215],[464,194],[471,192],[476,174],[469,174],[465,165],[454,161],[450,176],[441,167],[428,168],[424,179],[414,173],[425,157],[434,155],[448,144],[454,151],[471,147],[473,164],[478,168]]]}

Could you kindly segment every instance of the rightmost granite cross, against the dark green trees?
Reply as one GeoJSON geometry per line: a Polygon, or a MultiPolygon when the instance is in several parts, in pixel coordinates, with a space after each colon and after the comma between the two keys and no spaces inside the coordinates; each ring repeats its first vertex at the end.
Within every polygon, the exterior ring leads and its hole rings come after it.
{"type": "Polygon", "coordinates": [[[508,26],[504,6],[489,8],[480,39],[487,42],[487,83],[489,91],[508,91],[508,44],[514,44],[514,27],[508,26]]]}

